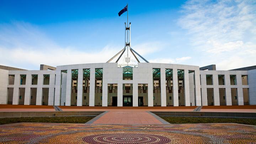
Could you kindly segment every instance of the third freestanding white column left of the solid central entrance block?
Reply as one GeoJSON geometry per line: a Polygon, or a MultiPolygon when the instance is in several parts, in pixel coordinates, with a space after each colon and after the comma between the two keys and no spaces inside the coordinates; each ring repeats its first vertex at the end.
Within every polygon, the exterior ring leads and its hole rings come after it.
{"type": "Polygon", "coordinates": [[[72,71],[71,69],[67,70],[67,81],[66,81],[66,106],[71,105],[71,82],[72,82],[72,71]]]}

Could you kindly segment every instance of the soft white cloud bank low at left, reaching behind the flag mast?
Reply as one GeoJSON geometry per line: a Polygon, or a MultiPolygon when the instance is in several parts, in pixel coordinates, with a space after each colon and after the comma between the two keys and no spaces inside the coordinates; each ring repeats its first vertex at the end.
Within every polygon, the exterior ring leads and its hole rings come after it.
{"type": "MultiPolygon", "coordinates": [[[[139,54],[146,55],[156,52],[161,46],[159,42],[146,42],[135,45],[134,49],[139,54]]],[[[85,52],[75,47],[60,47],[37,26],[29,23],[15,22],[11,25],[0,25],[0,65],[37,70],[40,64],[58,66],[105,63],[119,52],[120,48],[120,46],[107,45],[99,48],[100,50],[85,52]]],[[[122,63],[122,59],[119,62],[122,63]]]]}

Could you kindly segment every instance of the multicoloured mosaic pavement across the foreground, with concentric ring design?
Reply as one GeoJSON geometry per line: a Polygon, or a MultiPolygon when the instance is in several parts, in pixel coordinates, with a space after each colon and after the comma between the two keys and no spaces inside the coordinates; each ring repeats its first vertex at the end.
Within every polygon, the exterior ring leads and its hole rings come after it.
{"type": "Polygon", "coordinates": [[[15,123],[0,125],[0,143],[256,143],[256,127],[234,123],[166,125],[15,123]]]}

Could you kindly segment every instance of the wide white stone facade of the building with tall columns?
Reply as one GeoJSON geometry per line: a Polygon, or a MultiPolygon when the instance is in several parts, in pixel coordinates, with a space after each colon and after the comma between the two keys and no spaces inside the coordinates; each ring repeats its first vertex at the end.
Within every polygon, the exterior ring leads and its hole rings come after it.
{"type": "MultiPolygon", "coordinates": [[[[124,84],[132,84],[132,106],[139,106],[138,104],[138,85],[147,85],[147,106],[155,106],[154,103],[154,86],[153,86],[153,68],[160,68],[160,106],[169,105],[167,100],[172,101],[173,106],[179,106],[182,100],[185,106],[207,106],[209,103],[213,105],[232,105],[234,90],[235,102],[238,105],[244,105],[244,95],[248,95],[249,105],[256,105],[256,70],[249,71],[219,71],[219,70],[199,70],[199,66],[179,65],[179,64],[160,64],[160,63],[138,63],[138,67],[133,69],[132,80],[123,80],[123,69],[118,67],[117,63],[94,63],[94,64],[76,64],[57,66],[56,70],[2,70],[0,69],[0,104],[7,104],[11,94],[8,94],[8,89],[13,89],[12,104],[18,105],[20,99],[20,88],[25,88],[24,105],[31,105],[31,88],[37,88],[36,91],[36,105],[43,105],[43,88],[48,88],[48,102],[47,105],[66,105],[70,106],[75,101],[76,106],[84,105],[84,100],[88,100],[89,106],[96,106],[95,102],[95,69],[102,68],[102,102],[99,105],[109,106],[108,102],[108,84],[117,84],[117,106],[123,106],[123,92],[124,84]],[[85,82],[83,76],[83,69],[90,69],[90,87],[89,94],[86,98],[84,94],[85,82]],[[172,69],[172,83],[170,99],[167,97],[166,89],[166,69],[172,69]],[[62,74],[65,70],[66,73],[62,74]],[[78,79],[76,81],[77,89],[71,88],[72,84],[72,70],[78,70],[78,79]],[[178,80],[177,70],[183,70],[182,84],[178,80]],[[9,75],[14,75],[14,84],[9,84],[9,75]],[[21,75],[26,75],[26,84],[21,85],[21,75]],[[38,75],[37,84],[32,84],[32,75],[38,75]],[[44,85],[44,75],[50,75],[49,84],[44,85]],[[212,84],[207,85],[206,76],[210,75],[212,84]],[[219,75],[224,75],[224,85],[219,85],[219,75]],[[230,84],[230,75],[235,75],[235,85],[230,84]],[[242,85],[242,75],[247,75],[247,84],[242,85]],[[83,83],[84,82],[84,83],[83,83]],[[180,90],[180,87],[182,92],[180,90]],[[249,89],[248,94],[246,89],[249,89]],[[219,90],[222,90],[219,92],[219,90]],[[220,96],[223,93],[224,96],[220,96]],[[233,91],[232,91],[233,90],[233,91]],[[75,91],[75,96],[73,92],[75,91]],[[209,92],[212,92],[212,100],[209,100],[209,92]],[[181,94],[182,93],[182,96],[181,94]],[[232,93],[232,94],[231,94],[232,93]],[[208,96],[207,96],[208,95],[208,96]],[[232,96],[233,96],[232,95],[232,96]],[[180,98],[181,97],[181,98],[180,98]],[[209,102],[210,101],[210,102],[209,102]]],[[[209,80],[208,80],[209,81],[209,80]]],[[[10,98],[11,99],[11,98],[10,98]]],[[[98,103],[98,102],[97,102],[98,103]]],[[[86,104],[87,105],[87,104],[86,104]]]]}

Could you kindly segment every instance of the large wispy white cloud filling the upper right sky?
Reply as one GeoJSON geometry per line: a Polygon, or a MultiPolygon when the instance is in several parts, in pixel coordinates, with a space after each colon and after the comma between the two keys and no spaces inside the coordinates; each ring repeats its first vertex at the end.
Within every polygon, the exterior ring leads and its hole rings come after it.
{"type": "Polygon", "coordinates": [[[190,44],[222,70],[256,64],[256,2],[190,0],[182,6],[178,24],[190,44]]]}

